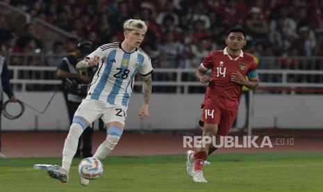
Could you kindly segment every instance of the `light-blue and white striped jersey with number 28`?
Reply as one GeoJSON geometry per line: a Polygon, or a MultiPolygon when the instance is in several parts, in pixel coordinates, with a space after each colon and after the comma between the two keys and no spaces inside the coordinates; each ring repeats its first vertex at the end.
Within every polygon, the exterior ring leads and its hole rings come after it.
{"type": "Polygon", "coordinates": [[[127,106],[135,74],[139,72],[144,76],[153,71],[151,60],[142,49],[127,53],[121,42],[102,45],[85,58],[93,56],[99,56],[101,61],[85,99],[127,106]]]}

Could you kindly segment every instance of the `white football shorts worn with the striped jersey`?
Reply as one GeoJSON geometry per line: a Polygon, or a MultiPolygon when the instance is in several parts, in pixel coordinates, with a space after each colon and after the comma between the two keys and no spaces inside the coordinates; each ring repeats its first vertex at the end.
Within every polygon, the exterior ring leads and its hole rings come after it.
{"type": "Polygon", "coordinates": [[[90,124],[92,124],[94,120],[102,118],[104,124],[117,121],[124,125],[127,109],[128,107],[122,105],[109,104],[108,102],[100,102],[92,99],[83,99],[74,115],[85,118],[90,124]]]}

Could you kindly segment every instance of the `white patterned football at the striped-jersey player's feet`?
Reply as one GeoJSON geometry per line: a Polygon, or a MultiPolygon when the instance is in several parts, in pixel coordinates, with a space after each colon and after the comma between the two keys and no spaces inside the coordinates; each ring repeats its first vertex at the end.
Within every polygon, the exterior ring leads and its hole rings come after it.
{"type": "Polygon", "coordinates": [[[88,157],[78,163],[78,174],[85,179],[96,179],[103,173],[103,165],[97,158],[88,157]]]}

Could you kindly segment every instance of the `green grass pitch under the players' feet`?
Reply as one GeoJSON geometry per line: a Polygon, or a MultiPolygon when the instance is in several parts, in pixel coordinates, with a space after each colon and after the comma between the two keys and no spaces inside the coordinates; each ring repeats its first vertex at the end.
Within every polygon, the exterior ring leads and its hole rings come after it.
{"type": "Polygon", "coordinates": [[[0,159],[0,191],[323,191],[323,153],[216,154],[205,166],[207,184],[192,182],[185,156],[109,157],[103,175],[78,184],[74,159],[66,184],[35,163],[60,165],[60,158],[0,159]]]}

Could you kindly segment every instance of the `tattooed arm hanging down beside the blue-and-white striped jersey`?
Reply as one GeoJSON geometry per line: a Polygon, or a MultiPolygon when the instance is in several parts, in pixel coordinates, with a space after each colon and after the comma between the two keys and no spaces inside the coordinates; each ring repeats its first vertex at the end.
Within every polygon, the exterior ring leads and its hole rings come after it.
{"type": "Polygon", "coordinates": [[[151,74],[142,76],[142,93],[144,93],[144,103],[139,109],[139,118],[144,119],[149,116],[149,100],[151,97],[151,90],[153,88],[153,81],[151,79],[151,74]]]}

